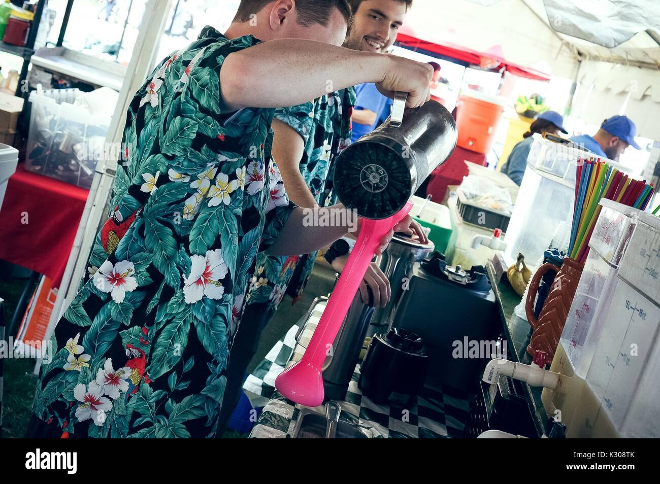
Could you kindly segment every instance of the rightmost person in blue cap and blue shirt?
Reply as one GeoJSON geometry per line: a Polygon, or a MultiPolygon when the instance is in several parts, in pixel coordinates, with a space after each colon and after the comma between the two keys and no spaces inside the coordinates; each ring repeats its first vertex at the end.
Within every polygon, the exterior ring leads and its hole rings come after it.
{"type": "Polygon", "coordinates": [[[570,138],[572,142],[587,148],[593,154],[604,156],[618,162],[621,154],[632,146],[636,150],[640,146],[635,142],[636,127],[627,116],[612,116],[605,119],[601,128],[593,136],[581,135],[570,138]]]}

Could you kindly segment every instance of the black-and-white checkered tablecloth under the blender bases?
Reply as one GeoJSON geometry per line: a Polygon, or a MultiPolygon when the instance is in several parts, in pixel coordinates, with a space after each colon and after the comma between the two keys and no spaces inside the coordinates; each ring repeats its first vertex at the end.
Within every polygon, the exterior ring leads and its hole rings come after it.
{"type": "MultiPolygon", "coordinates": [[[[286,333],[246,380],[243,388],[251,400],[269,399],[249,437],[288,439],[293,435],[300,411],[308,407],[294,404],[279,394],[274,387],[275,378],[288,364],[302,357],[324,308],[325,301],[314,307],[298,344],[295,336],[302,322],[286,333]]],[[[443,388],[442,392],[424,388],[411,408],[379,405],[362,395],[358,388],[359,379],[360,365],[357,365],[345,400],[338,402],[342,408],[341,419],[360,425],[371,437],[443,439],[463,434],[469,419],[470,400],[474,396],[453,388],[443,388]]],[[[312,410],[325,415],[323,406],[312,410]]]]}

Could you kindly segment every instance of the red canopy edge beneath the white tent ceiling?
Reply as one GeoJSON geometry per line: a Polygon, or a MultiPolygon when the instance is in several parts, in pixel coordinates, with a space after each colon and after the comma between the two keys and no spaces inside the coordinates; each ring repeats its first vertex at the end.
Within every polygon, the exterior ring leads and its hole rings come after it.
{"type": "Polygon", "coordinates": [[[550,80],[550,75],[542,73],[541,71],[537,71],[536,69],[532,69],[531,67],[523,67],[521,65],[508,62],[506,59],[504,59],[504,57],[498,55],[498,53],[479,52],[473,49],[459,47],[458,45],[451,45],[448,42],[443,42],[441,44],[438,42],[422,40],[416,36],[412,30],[406,28],[403,28],[401,32],[399,32],[397,44],[401,47],[424,49],[426,51],[444,55],[445,57],[451,57],[451,59],[457,59],[459,61],[468,62],[475,65],[482,65],[484,61],[487,62],[490,59],[493,59],[494,61],[498,61],[500,63],[500,67],[504,67],[506,71],[517,76],[535,80],[550,80]]]}

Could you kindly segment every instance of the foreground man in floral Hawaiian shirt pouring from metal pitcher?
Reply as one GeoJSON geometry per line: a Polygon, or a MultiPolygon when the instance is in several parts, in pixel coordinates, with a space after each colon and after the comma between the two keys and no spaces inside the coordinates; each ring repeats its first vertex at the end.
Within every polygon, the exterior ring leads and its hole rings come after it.
{"type": "Polygon", "coordinates": [[[243,0],[225,35],[205,28],[146,80],[27,437],[215,436],[234,303],[257,253],[309,253],[347,232],[305,226],[293,205],[267,211],[275,107],[321,96],[328,78],[378,81],[412,107],[430,98],[424,65],[337,47],[349,15],[344,0],[243,0]]]}

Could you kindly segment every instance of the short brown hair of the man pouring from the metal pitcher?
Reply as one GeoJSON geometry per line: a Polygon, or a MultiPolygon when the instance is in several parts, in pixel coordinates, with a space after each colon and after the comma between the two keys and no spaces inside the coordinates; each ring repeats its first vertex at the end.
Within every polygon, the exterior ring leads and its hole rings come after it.
{"type": "MultiPolygon", "coordinates": [[[[412,1],[412,0],[411,0],[412,1]]],[[[234,17],[235,22],[248,22],[250,16],[263,9],[273,0],[241,0],[238,12],[234,17]]],[[[296,11],[298,12],[298,24],[308,27],[312,24],[321,24],[327,27],[330,15],[337,9],[350,22],[350,5],[348,0],[296,0],[296,11]]]]}

